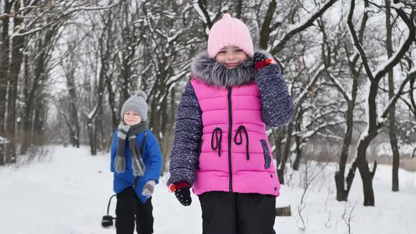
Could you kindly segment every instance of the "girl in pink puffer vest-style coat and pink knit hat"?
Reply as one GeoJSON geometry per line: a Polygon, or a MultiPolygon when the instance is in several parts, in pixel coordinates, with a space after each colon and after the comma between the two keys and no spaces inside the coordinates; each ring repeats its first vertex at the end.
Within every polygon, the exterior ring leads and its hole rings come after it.
{"type": "Polygon", "coordinates": [[[293,112],[279,66],[254,53],[248,27],[226,13],[192,62],[170,159],[169,189],[188,206],[192,187],[204,234],[275,233],[280,184],[265,125],[293,112]]]}

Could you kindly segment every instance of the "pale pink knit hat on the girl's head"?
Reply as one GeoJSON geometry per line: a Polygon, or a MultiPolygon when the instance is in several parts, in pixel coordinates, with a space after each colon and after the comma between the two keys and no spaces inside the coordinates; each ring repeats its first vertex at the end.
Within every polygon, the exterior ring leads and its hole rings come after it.
{"type": "Polygon", "coordinates": [[[252,57],[253,43],[247,25],[225,13],[221,20],[212,26],[208,36],[208,56],[214,58],[219,50],[226,46],[240,47],[252,57]]]}

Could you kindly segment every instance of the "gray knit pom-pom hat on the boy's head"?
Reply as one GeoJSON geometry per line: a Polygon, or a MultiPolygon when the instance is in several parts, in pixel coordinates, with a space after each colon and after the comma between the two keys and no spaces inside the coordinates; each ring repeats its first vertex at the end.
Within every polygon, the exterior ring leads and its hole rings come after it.
{"type": "MultiPolygon", "coordinates": [[[[142,90],[136,91],[135,94],[129,97],[121,108],[121,119],[124,118],[126,111],[134,111],[139,113],[142,121],[147,121],[147,94],[142,90]]],[[[124,120],[124,119],[123,119],[124,120]]]]}

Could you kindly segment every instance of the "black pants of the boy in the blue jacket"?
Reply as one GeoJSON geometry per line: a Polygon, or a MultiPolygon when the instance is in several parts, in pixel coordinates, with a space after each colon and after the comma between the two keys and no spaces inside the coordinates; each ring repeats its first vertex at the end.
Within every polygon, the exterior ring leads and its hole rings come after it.
{"type": "Polygon", "coordinates": [[[135,223],[138,234],[153,233],[152,197],[145,204],[128,187],[117,195],[116,233],[133,234],[135,223]]]}

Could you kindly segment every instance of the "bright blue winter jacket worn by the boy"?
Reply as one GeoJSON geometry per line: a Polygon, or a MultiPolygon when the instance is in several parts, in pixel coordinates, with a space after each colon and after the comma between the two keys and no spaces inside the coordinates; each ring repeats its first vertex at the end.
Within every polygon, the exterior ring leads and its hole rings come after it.
{"type": "MultiPolygon", "coordinates": [[[[146,171],[145,175],[140,176],[135,187],[137,197],[145,203],[147,197],[142,195],[143,187],[149,180],[156,180],[159,183],[159,176],[161,173],[161,152],[156,137],[154,137],[152,131],[145,130],[142,133],[136,135],[137,144],[139,148],[142,146],[143,136],[147,133],[145,147],[143,147],[142,159],[145,162],[146,171]]],[[[135,176],[133,176],[133,168],[131,166],[130,149],[128,148],[128,141],[126,141],[126,171],[123,173],[116,173],[114,170],[114,163],[117,155],[117,130],[114,132],[113,144],[111,146],[111,172],[114,173],[113,190],[116,194],[122,192],[126,187],[133,186],[135,182],[135,176]]]]}

